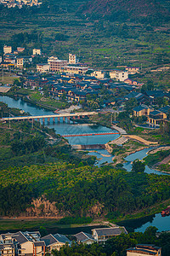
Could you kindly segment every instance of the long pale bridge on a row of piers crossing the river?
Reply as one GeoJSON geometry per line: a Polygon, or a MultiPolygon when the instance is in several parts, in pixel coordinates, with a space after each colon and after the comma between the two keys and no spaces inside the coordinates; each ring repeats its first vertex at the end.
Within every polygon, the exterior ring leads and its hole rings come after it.
{"type": "Polygon", "coordinates": [[[45,119],[48,119],[48,122],[50,119],[55,119],[57,118],[58,120],[60,118],[63,118],[63,121],[65,121],[65,118],[70,120],[72,119],[80,119],[84,118],[85,116],[89,117],[90,115],[94,115],[96,112],[80,112],[80,113],[55,113],[55,114],[48,114],[48,115],[31,115],[31,116],[13,116],[13,117],[4,117],[0,119],[1,121],[12,121],[12,120],[34,120],[37,119],[38,121],[42,119],[42,122],[45,121],[45,119]]]}

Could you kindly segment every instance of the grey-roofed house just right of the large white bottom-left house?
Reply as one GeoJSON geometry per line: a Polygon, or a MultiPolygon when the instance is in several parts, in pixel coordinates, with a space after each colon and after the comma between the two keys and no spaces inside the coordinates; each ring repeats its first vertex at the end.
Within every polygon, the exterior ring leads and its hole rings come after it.
{"type": "Polygon", "coordinates": [[[48,253],[51,253],[52,250],[59,251],[60,247],[63,247],[66,243],[71,246],[71,241],[66,236],[60,234],[43,236],[41,241],[45,242],[48,253]]]}

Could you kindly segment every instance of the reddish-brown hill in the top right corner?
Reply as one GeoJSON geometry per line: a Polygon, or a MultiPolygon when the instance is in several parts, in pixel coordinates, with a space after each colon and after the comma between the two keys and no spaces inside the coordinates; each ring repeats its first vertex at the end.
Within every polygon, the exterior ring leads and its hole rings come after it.
{"type": "Polygon", "coordinates": [[[109,20],[165,21],[169,19],[170,1],[150,0],[92,0],[82,4],[79,13],[92,18],[109,20]]]}

